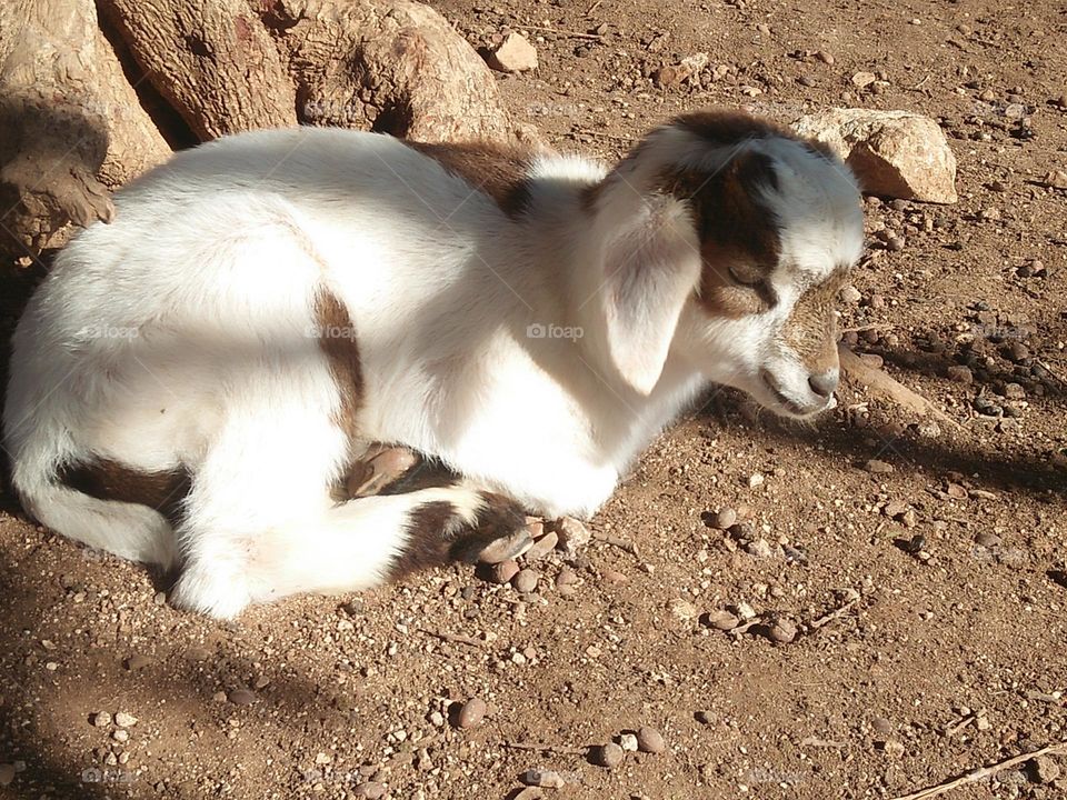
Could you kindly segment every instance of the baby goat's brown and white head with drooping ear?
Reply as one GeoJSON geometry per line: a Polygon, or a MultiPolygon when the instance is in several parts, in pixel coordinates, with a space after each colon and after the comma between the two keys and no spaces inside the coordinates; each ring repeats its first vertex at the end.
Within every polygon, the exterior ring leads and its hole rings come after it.
{"type": "Polygon", "coordinates": [[[610,358],[649,392],[668,358],[789,417],[832,408],[835,300],[862,249],[845,164],[777,126],[692,113],[590,193],[610,358]]]}

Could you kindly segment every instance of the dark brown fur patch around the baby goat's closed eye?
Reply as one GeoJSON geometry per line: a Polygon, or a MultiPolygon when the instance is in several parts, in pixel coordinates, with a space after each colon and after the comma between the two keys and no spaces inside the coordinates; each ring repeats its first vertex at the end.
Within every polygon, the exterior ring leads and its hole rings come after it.
{"type": "Polygon", "coordinates": [[[716,317],[746,317],[776,301],[767,278],[781,242],[770,210],[757,197],[774,186],[770,158],[742,152],[717,173],[674,170],[662,191],[689,203],[700,237],[704,269],[699,300],[716,317]]]}

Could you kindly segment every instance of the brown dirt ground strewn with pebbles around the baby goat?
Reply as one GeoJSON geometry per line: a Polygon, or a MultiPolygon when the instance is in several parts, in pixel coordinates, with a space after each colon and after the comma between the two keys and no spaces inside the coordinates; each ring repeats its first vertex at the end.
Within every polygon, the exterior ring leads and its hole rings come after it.
{"type": "MultiPolygon", "coordinates": [[[[541,768],[566,781],[546,798],[897,798],[1067,740],[1067,192],[1041,184],[1067,169],[1063,6],[433,4],[476,46],[528,32],[540,68],[500,88],[564,149],[615,158],[710,104],[938,119],[959,203],[869,202],[842,326],[947,419],[855,384],[809,427],[712,393],[532,593],[456,567],[235,624],[2,493],[0,796],[511,798],[541,768]],[[711,624],[739,607],[799,632],[711,624]],[[469,698],[488,714],[459,728],[469,698]],[[666,751],[589,756],[640,726],[666,751]]],[[[0,270],[4,350],[39,272],[0,270]]],[[[1067,758],[945,797],[1064,798],[1067,758]]]]}

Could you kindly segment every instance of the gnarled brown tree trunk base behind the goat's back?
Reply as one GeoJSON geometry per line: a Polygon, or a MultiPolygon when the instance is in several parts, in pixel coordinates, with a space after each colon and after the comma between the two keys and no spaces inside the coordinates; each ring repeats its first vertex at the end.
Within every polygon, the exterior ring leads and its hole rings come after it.
{"type": "Polygon", "coordinates": [[[517,136],[481,59],[411,0],[2,0],[0,254],[109,220],[172,148],[299,123],[517,136]]]}

